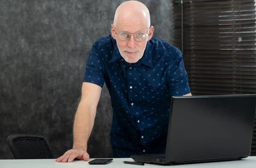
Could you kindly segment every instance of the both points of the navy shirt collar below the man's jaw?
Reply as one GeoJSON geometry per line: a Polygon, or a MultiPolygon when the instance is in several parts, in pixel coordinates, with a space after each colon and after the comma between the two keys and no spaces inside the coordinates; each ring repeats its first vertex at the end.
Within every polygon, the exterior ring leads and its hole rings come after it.
{"type": "MultiPolygon", "coordinates": [[[[114,62],[118,59],[120,59],[122,56],[120,55],[119,53],[119,49],[117,47],[117,44],[116,44],[116,40],[113,41],[114,45],[114,50],[113,50],[113,55],[112,55],[112,59],[111,59],[111,62],[114,62]]],[[[153,67],[153,62],[152,62],[152,51],[150,50],[150,42],[148,41],[147,42],[147,45],[146,45],[146,48],[145,48],[145,51],[143,53],[143,56],[142,58],[137,62],[137,64],[140,62],[142,64],[145,64],[149,67],[153,67]]]]}

